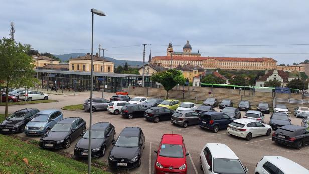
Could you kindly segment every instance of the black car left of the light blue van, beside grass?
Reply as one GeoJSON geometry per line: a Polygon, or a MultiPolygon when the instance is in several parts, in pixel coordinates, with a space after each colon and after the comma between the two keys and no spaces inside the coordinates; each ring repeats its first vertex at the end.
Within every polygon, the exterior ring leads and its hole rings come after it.
{"type": "Polygon", "coordinates": [[[24,132],[25,125],[38,112],[38,109],[21,109],[14,112],[0,124],[0,133],[24,132]]]}

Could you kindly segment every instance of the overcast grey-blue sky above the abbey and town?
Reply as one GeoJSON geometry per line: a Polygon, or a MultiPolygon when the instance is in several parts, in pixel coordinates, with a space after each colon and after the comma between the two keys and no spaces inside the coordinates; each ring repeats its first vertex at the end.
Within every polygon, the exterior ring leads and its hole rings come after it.
{"type": "Polygon", "coordinates": [[[278,64],[309,59],[309,1],[5,1],[0,0],[0,36],[53,54],[91,51],[91,8],[106,16],[94,18],[94,48],[106,56],[142,61],[164,56],[171,41],[182,51],[187,40],[202,56],[272,57],[278,64]],[[150,45],[151,44],[151,45],[150,45]],[[138,45],[138,46],[136,46],[138,45]],[[130,46],[111,48],[119,46],[130,46]],[[256,54],[259,53],[259,54],[256,54]],[[275,53],[275,54],[274,54],[275,53]]]}

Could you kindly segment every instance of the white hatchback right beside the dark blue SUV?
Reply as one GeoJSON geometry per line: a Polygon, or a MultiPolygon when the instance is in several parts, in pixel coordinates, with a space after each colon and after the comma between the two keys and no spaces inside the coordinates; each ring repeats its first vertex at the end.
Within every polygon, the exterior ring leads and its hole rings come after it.
{"type": "Polygon", "coordinates": [[[228,125],[227,133],[250,141],[252,137],[264,135],[270,136],[271,129],[271,126],[268,124],[263,124],[259,121],[248,118],[241,118],[232,121],[228,125]]]}

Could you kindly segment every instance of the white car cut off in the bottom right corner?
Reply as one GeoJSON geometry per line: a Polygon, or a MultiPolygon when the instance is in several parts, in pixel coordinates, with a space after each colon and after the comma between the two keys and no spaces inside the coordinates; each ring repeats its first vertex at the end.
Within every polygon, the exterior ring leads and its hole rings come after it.
{"type": "Polygon", "coordinates": [[[284,173],[284,174],[308,174],[309,170],[303,166],[297,164],[282,156],[264,156],[256,164],[254,170],[256,174],[272,174],[272,173],[284,173]]]}

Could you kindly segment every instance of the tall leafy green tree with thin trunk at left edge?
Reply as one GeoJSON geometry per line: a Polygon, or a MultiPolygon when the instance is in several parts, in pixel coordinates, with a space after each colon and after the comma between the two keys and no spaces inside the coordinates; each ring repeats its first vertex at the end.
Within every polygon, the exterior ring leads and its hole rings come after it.
{"type": "Polygon", "coordinates": [[[0,80],[6,84],[5,116],[8,116],[9,88],[33,86],[35,71],[32,58],[27,55],[30,45],[16,43],[12,39],[0,40],[0,80]]]}

